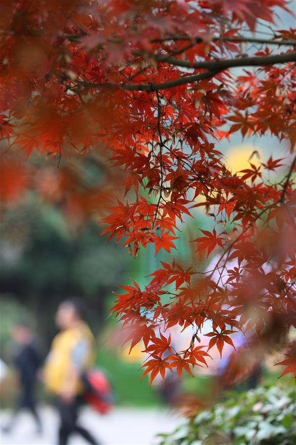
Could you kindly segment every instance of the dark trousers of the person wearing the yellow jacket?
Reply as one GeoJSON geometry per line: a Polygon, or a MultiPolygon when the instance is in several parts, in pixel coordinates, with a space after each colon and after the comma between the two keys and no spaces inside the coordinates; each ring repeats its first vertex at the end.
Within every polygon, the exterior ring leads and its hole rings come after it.
{"type": "Polygon", "coordinates": [[[89,444],[98,445],[98,442],[85,430],[82,426],[77,424],[78,410],[82,404],[81,397],[76,397],[71,402],[65,402],[58,399],[57,408],[60,415],[60,429],[59,429],[59,445],[66,445],[69,436],[72,433],[80,434],[89,444]]]}

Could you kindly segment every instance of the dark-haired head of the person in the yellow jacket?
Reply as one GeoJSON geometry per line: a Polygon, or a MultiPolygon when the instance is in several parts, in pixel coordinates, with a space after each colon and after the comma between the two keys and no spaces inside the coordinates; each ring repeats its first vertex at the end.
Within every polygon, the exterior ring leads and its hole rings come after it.
{"type": "Polygon", "coordinates": [[[69,329],[85,317],[85,302],[78,297],[63,301],[57,308],[55,323],[60,329],[69,329]]]}

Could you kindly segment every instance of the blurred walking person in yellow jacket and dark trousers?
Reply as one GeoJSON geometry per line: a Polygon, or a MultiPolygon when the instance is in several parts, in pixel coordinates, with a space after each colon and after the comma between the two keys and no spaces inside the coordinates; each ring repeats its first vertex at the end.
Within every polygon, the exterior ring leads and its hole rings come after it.
{"type": "Polygon", "coordinates": [[[59,445],[66,445],[72,433],[80,434],[90,444],[98,444],[77,423],[84,395],[83,376],[94,359],[94,337],[83,318],[83,300],[72,298],[59,305],[55,322],[61,331],[53,339],[44,367],[44,384],[56,397],[60,415],[59,445]]]}

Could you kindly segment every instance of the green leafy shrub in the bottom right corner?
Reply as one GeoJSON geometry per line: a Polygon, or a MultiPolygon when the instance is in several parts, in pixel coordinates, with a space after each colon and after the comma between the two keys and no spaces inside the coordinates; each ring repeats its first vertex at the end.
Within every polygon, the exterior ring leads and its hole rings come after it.
{"type": "Polygon", "coordinates": [[[173,433],[161,434],[161,444],[292,445],[295,416],[295,388],[259,387],[200,411],[173,433]]]}

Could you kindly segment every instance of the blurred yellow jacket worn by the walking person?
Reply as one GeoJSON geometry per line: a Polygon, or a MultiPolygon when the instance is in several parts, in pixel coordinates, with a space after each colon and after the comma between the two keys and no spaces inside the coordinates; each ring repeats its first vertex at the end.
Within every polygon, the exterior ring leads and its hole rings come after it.
{"type": "MultiPolygon", "coordinates": [[[[75,328],[66,329],[53,339],[44,367],[44,384],[50,393],[59,394],[67,384],[67,378],[75,368],[73,354],[80,344],[86,346],[79,369],[83,373],[92,365],[94,359],[94,337],[86,323],[81,322],[75,328]]],[[[75,394],[82,392],[83,383],[79,380],[75,394]]]]}

